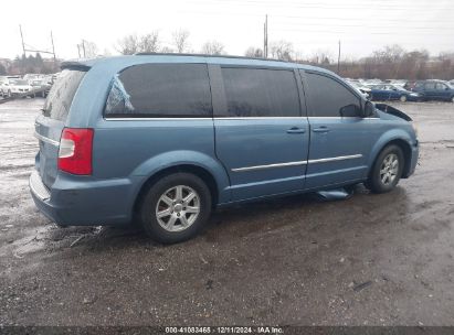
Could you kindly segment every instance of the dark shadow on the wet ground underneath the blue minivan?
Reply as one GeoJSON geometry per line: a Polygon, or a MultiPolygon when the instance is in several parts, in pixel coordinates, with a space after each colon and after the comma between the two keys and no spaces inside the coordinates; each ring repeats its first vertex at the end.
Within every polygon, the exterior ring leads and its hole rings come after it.
{"type": "MultiPolygon", "coordinates": [[[[401,191],[398,187],[393,193],[401,193],[401,191]]],[[[295,218],[303,216],[310,219],[314,212],[332,210],[332,207],[327,207],[328,204],[336,203],[334,205],[336,208],[336,206],[345,206],[342,204],[345,202],[358,202],[359,197],[369,196],[368,194],[367,188],[357,185],[345,199],[332,201],[318,193],[308,193],[218,209],[199,236],[186,244],[222,242],[231,238],[279,229],[293,225],[295,218]]],[[[167,247],[147,237],[141,227],[135,224],[115,227],[57,227],[49,223],[47,228],[44,239],[49,241],[46,247],[49,251],[75,248],[102,251],[112,248],[167,247]]]]}

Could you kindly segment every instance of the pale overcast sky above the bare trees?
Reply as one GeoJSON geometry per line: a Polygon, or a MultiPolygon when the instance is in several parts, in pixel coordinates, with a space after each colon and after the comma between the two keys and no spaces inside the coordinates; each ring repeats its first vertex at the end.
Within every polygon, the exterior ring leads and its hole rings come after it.
{"type": "Polygon", "coordinates": [[[358,58],[387,44],[431,54],[454,51],[452,0],[162,0],[162,1],[2,1],[0,57],[22,53],[19,24],[28,47],[50,50],[53,31],[57,57],[77,57],[82,39],[117,54],[115,43],[130,33],[159,31],[171,46],[178,29],[190,32],[193,52],[217,40],[229,54],[263,46],[268,14],[270,41],[287,40],[304,57],[317,51],[358,58]]]}

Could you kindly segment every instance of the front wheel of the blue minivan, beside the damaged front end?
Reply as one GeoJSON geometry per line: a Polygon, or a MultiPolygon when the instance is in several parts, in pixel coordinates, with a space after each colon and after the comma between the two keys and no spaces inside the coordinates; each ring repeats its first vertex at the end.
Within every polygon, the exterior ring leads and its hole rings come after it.
{"type": "Polygon", "coordinates": [[[403,165],[404,156],[402,149],[395,144],[386,147],[377,156],[366,186],[373,193],[387,193],[392,191],[395,185],[398,185],[399,180],[402,176],[403,165]],[[388,166],[388,161],[386,162],[386,160],[390,156],[393,159],[395,158],[398,161],[398,166],[395,170],[392,170],[391,166],[388,166]]]}

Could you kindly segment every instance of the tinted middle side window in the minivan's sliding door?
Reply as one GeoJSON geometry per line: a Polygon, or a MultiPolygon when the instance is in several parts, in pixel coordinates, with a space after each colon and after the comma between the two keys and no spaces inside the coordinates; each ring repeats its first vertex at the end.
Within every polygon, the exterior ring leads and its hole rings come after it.
{"type": "Polygon", "coordinates": [[[222,68],[229,117],[298,117],[295,74],[286,69],[222,68]]]}

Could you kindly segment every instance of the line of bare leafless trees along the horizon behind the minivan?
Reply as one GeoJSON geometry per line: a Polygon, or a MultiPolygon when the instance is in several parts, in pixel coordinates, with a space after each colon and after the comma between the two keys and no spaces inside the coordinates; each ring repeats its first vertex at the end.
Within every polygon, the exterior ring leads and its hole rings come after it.
{"type": "MultiPolygon", "coordinates": [[[[98,55],[98,47],[94,42],[84,41],[83,45],[77,45],[77,47],[82,57],[98,55]],[[82,46],[83,54],[81,54],[82,46]]],[[[217,40],[207,41],[200,50],[194,50],[190,43],[190,32],[182,29],[172,32],[171,40],[167,43],[163,43],[158,31],[146,34],[128,34],[119,39],[114,48],[123,55],[136,53],[228,54],[225,46],[217,40]]],[[[104,52],[104,55],[109,55],[109,53],[104,52]]],[[[245,50],[244,56],[263,57],[263,48],[250,46],[245,50]]],[[[349,60],[341,57],[338,64],[337,55],[332,55],[329,51],[319,50],[307,56],[296,51],[291,42],[279,40],[270,43],[267,56],[268,58],[325,67],[349,78],[410,80],[454,78],[454,53],[441,53],[437,56],[431,56],[426,50],[407,51],[397,44],[376,50],[369,56],[361,58],[349,60]]],[[[0,75],[18,73],[18,69],[24,71],[24,73],[53,73],[57,71],[59,65],[52,62],[43,62],[39,53],[35,56],[17,56],[8,69],[2,68],[0,65],[0,75]]]]}

